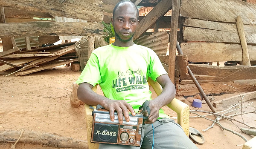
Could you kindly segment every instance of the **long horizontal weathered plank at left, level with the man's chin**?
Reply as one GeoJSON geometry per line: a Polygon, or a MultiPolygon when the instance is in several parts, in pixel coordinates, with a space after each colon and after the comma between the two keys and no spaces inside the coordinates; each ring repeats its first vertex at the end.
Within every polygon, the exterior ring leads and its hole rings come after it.
{"type": "Polygon", "coordinates": [[[101,35],[102,23],[27,22],[0,23],[1,37],[101,35]],[[8,26],[8,28],[6,27],[8,26]],[[22,32],[20,32],[22,31],[22,32]]]}

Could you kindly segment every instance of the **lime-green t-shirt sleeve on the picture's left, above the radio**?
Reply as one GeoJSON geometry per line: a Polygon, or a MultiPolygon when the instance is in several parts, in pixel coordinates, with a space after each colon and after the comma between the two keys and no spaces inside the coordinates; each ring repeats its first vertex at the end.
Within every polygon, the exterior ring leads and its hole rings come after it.
{"type": "Polygon", "coordinates": [[[81,83],[89,83],[92,86],[99,84],[102,82],[100,69],[99,69],[99,60],[98,57],[92,53],[84,70],[82,71],[78,80],[76,80],[77,84],[81,83]]]}

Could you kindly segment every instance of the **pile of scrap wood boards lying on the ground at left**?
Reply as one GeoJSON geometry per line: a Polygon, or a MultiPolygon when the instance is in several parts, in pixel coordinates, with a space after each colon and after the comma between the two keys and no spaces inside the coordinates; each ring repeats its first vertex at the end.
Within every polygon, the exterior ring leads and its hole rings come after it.
{"type": "Polygon", "coordinates": [[[15,48],[0,52],[0,63],[4,63],[0,66],[0,72],[21,67],[15,72],[15,75],[26,75],[78,61],[74,44],[75,42],[64,43],[27,51],[15,48]]]}

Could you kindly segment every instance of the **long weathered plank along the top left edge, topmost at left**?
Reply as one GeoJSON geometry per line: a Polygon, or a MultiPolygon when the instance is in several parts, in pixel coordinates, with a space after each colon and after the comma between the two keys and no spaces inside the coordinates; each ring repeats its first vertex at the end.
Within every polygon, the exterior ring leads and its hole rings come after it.
{"type": "Polygon", "coordinates": [[[90,22],[101,23],[103,20],[102,1],[99,0],[67,0],[62,4],[56,0],[1,0],[0,6],[90,22]]]}

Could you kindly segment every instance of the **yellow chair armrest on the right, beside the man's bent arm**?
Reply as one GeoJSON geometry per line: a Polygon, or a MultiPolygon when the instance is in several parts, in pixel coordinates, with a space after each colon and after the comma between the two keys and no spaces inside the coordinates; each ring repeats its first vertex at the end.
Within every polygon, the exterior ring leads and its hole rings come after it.
{"type": "MultiPolygon", "coordinates": [[[[163,91],[162,86],[150,77],[148,78],[148,83],[151,84],[152,88],[159,96],[163,91]]],[[[185,134],[189,136],[189,106],[176,98],[174,98],[171,103],[167,104],[167,106],[177,113],[178,124],[180,124],[185,134]]]]}

